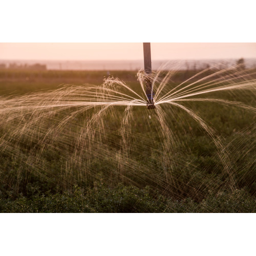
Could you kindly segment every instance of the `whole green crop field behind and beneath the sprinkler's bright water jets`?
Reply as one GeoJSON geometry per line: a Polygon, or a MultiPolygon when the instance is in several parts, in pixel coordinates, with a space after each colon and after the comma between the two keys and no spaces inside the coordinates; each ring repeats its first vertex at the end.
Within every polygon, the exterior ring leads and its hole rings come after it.
{"type": "MultiPolygon", "coordinates": [[[[165,90],[198,72],[177,72],[165,90]]],[[[255,71],[250,72],[250,78],[255,79],[255,71]]],[[[136,72],[113,71],[111,75],[140,93],[136,72]]],[[[74,85],[100,85],[105,77],[104,71],[3,69],[0,95],[3,102],[7,97],[47,98],[53,95],[52,90],[66,84],[69,86],[64,93],[74,85]]],[[[251,90],[220,91],[210,96],[255,108],[251,90]]],[[[166,127],[159,124],[154,110],[134,106],[125,133],[120,133],[125,113],[125,106],[120,105],[96,119],[89,135],[81,131],[97,115],[98,107],[87,112],[80,111],[80,106],[53,114],[28,112],[21,118],[3,105],[0,211],[256,212],[256,113],[210,101],[184,105],[214,127],[222,148],[183,110],[164,104],[166,127]],[[20,130],[28,123],[26,131],[20,130]],[[172,147],[166,129],[174,136],[172,147]]]]}

